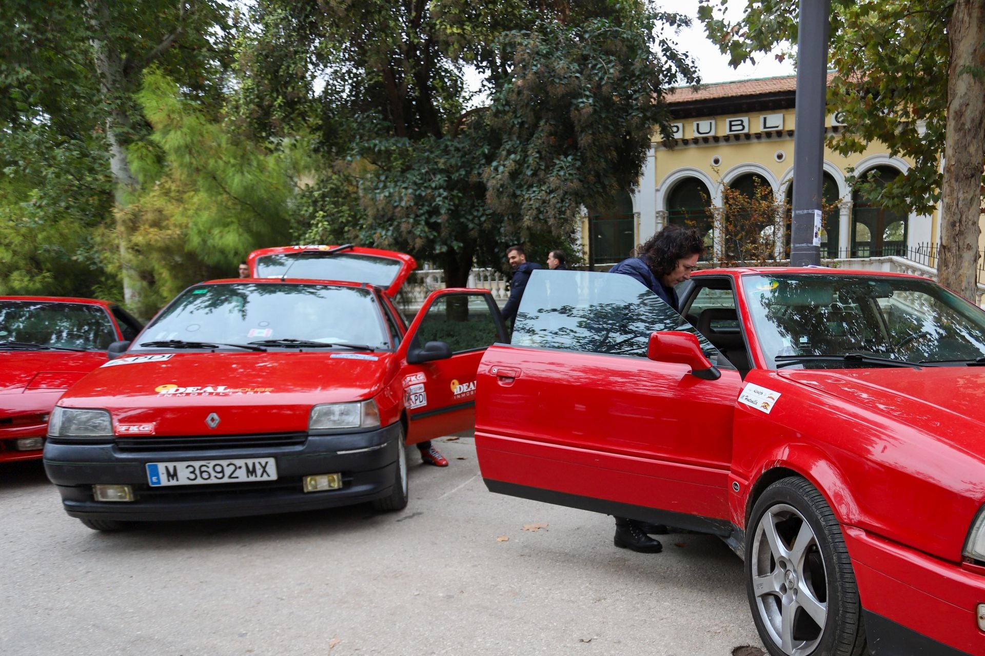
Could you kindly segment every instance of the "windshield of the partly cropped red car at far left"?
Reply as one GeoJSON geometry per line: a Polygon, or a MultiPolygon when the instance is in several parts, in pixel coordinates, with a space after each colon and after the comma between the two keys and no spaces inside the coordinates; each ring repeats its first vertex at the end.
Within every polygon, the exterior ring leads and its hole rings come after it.
{"type": "MultiPolygon", "coordinates": [[[[53,301],[0,301],[0,348],[36,344],[46,348],[104,351],[116,341],[112,322],[98,305],[53,301]]],[[[23,346],[21,346],[23,347],[23,346]]]]}

